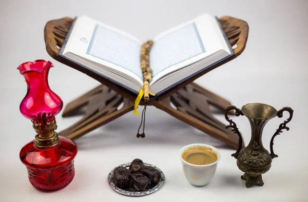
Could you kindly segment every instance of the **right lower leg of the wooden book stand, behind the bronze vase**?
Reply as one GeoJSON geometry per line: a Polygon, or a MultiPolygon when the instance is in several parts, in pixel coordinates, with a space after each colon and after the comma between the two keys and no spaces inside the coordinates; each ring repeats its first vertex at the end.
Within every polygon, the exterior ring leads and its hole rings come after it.
{"type": "Polygon", "coordinates": [[[226,129],[210,110],[210,105],[213,105],[223,112],[231,104],[197,84],[191,83],[153,105],[231,147],[238,147],[238,136],[226,129]]]}

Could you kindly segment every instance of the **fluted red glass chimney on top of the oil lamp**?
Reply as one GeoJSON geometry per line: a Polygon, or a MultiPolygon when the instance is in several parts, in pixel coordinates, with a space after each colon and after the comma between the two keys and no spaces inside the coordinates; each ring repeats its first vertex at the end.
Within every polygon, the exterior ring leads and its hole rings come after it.
{"type": "Polygon", "coordinates": [[[25,77],[28,91],[20,105],[21,113],[29,119],[53,117],[63,107],[61,98],[48,85],[48,72],[52,63],[35,60],[21,64],[17,69],[25,77]]]}

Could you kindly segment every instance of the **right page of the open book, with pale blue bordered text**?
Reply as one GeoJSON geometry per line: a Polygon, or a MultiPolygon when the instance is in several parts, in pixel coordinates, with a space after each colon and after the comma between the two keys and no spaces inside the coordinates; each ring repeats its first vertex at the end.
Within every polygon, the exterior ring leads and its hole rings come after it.
{"type": "Polygon", "coordinates": [[[215,16],[204,14],[157,36],[149,57],[153,75],[150,85],[224,49],[217,27],[215,16]]]}

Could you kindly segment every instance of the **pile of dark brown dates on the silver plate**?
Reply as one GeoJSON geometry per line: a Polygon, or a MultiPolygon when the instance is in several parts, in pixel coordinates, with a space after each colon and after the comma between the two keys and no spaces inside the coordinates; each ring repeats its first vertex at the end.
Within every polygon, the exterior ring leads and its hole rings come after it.
{"type": "Polygon", "coordinates": [[[115,168],[112,179],[117,187],[134,187],[138,191],[145,191],[151,185],[156,185],[160,178],[161,174],[157,169],[144,166],[143,161],[136,158],[131,162],[129,169],[125,167],[115,168]]]}

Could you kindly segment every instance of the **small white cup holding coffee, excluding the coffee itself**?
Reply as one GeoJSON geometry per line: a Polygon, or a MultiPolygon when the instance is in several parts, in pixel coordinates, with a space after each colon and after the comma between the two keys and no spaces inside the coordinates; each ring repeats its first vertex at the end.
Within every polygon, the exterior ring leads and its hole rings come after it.
{"type": "Polygon", "coordinates": [[[213,178],[215,174],[218,161],[220,160],[221,157],[220,152],[215,147],[206,144],[186,145],[180,150],[179,155],[182,161],[182,168],[186,179],[189,181],[191,185],[198,187],[207,185],[210,182],[210,180],[213,178]],[[211,148],[214,152],[217,153],[217,160],[214,163],[207,165],[195,165],[188,163],[182,158],[182,154],[186,149],[195,146],[211,148]]]}

